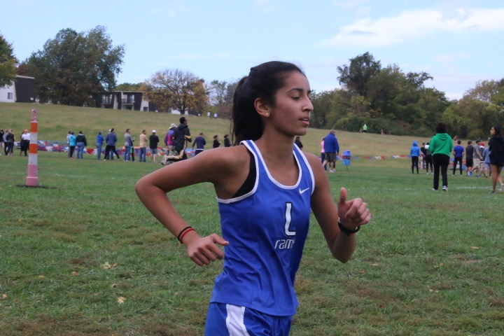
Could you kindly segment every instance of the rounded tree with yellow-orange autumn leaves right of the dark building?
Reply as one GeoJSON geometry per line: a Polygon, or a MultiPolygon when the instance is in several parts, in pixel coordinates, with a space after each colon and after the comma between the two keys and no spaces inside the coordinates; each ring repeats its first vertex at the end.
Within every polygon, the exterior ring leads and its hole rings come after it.
{"type": "Polygon", "coordinates": [[[179,69],[156,72],[146,81],[146,96],[160,111],[204,113],[208,106],[204,80],[179,69]]]}

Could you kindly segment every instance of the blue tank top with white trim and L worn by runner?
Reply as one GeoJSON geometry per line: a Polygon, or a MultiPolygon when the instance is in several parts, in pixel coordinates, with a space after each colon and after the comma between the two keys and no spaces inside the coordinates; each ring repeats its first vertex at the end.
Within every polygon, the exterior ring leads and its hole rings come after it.
{"type": "Polygon", "coordinates": [[[294,186],[283,186],[269,174],[253,141],[242,141],[255,158],[255,185],[245,195],[217,199],[224,239],[223,272],[215,281],[211,302],[235,304],[274,316],[292,316],[294,292],[314,191],[311,167],[297,146],[299,167],[294,186]]]}

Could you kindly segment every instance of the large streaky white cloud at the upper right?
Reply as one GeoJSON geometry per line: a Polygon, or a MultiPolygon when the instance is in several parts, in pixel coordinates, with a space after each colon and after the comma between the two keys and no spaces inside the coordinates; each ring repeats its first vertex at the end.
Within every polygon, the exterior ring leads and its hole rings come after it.
{"type": "Polygon", "coordinates": [[[428,36],[434,31],[504,30],[504,8],[461,10],[450,16],[439,10],[412,10],[388,18],[358,20],[339,29],[325,46],[384,46],[412,38],[428,36]]]}

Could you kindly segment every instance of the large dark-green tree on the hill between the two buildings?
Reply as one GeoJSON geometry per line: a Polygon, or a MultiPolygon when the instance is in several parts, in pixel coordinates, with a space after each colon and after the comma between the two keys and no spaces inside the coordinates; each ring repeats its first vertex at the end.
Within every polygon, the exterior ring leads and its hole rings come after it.
{"type": "Polygon", "coordinates": [[[123,45],[112,45],[105,27],[82,33],[62,29],[43,50],[33,52],[22,69],[35,77],[41,102],[99,106],[102,94],[116,86],[124,53],[123,45]]]}

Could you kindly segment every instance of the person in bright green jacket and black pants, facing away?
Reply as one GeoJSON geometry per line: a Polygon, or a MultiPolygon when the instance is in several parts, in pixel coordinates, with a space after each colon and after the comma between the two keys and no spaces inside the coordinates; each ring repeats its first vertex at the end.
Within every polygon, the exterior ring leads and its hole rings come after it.
{"type": "Polygon", "coordinates": [[[430,139],[429,151],[433,155],[434,163],[434,189],[439,188],[439,173],[441,170],[442,190],[448,191],[448,166],[451,151],[453,151],[453,141],[447,133],[446,125],[439,123],[436,126],[436,134],[430,139]]]}

